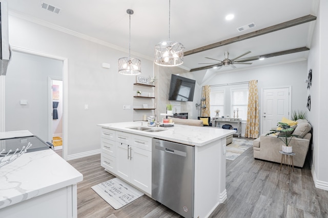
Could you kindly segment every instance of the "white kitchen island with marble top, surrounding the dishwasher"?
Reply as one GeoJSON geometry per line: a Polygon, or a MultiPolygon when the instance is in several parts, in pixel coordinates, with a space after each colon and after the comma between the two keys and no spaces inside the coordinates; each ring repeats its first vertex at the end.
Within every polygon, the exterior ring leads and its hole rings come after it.
{"type": "Polygon", "coordinates": [[[161,139],[194,148],[192,217],[208,217],[227,199],[226,137],[234,130],[186,125],[157,128],[148,127],[147,122],[97,126],[101,127],[101,166],[146,195],[152,197],[152,139],[161,139]]]}

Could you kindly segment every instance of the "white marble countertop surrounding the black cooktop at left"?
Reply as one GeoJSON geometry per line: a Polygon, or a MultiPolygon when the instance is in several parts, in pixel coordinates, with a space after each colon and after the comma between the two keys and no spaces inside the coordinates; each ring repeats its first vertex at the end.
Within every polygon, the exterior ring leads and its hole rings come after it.
{"type": "MultiPolygon", "coordinates": [[[[0,133],[0,138],[29,135],[16,131],[0,133]]],[[[0,167],[0,209],[82,180],[83,175],[51,149],[25,153],[0,167]]]]}

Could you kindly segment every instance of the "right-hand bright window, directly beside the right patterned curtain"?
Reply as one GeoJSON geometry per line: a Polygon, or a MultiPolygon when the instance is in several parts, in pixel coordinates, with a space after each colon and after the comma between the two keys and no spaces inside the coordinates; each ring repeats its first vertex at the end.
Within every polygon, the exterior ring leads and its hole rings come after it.
{"type": "Polygon", "coordinates": [[[247,106],[248,106],[248,89],[233,89],[231,91],[231,114],[242,120],[247,120],[247,106]]]}

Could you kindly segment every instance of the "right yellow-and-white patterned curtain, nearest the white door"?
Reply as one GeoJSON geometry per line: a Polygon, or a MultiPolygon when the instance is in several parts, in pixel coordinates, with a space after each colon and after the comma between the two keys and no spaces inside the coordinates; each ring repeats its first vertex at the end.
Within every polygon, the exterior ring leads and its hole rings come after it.
{"type": "Polygon", "coordinates": [[[259,135],[259,115],[258,115],[258,92],[257,81],[252,80],[249,84],[247,123],[245,137],[257,138],[259,135]]]}

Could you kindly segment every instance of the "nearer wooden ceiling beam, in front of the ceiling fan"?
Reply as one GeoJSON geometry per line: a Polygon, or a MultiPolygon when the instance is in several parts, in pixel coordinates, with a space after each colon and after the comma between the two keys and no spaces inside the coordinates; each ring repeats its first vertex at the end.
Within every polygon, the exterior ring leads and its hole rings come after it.
{"type": "Polygon", "coordinates": [[[299,17],[299,18],[296,18],[296,19],[293,19],[293,20],[290,20],[290,21],[279,23],[279,24],[271,26],[271,27],[267,27],[267,28],[264,28],[264,29],[261,29],[261,30],[257,30],[257,31],[251,32],[251,33],[247,33],[247,34],[244,34],[244,35],[241,35],[241,36],[236,36],[236,37],[233,37],[233,38],[230,38],[230,39],[215,42],[213,44],[198,47],[197,49],[193,49],[193,50],[185,52],[184,56],[188,56],[188,55],[196,54],[196,53],[199,53],[199,52],[215,49],[216,47],[220,47],[220,46],[223,46],[223,45],[227,45],[227,44],[231,44],[231,43],[234,43],[234,42],[242,41],[242,40],[245,40],[245,39],[250,39],[250,38],[257,37],[257,36],[260,36],[260,35],[264,35],[264,34],[267,34],[267,33],[272,33],[272,32],[278,31],[278,30],[294,27],[294,26],[300,25],[302,23],[310,22],[310,21],[313,21],[313,20],[316,20],[316,19],[317,19],[316,16],[313,16],[311,14],[306,15],[306,16],[299,17]]]}

